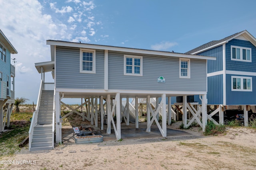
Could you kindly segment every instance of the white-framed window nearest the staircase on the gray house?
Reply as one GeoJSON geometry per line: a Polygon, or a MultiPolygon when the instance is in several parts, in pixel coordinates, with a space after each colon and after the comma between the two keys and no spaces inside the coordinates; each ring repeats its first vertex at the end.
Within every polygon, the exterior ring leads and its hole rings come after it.
{"type": "Polygon", "coordinates": [[[96,51],[91,49],[80,49],[80,72],[96,73],[96,51]]]}

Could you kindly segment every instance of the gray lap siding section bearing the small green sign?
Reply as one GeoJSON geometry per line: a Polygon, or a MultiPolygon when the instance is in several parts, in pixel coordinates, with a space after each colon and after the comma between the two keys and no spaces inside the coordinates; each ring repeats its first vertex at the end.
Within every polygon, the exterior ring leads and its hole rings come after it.
{"type": "Polygon", "coordinates": [[[108,88],[120,90],[206,91],[206,60],[190,59],[190,78],[179,78],[179,58],[108,52],[108,88]],[[124,75],[124,54],[143,56],[143,76],[124,75]],[[158,83],[163,76],[165,83],[158,83]]]}

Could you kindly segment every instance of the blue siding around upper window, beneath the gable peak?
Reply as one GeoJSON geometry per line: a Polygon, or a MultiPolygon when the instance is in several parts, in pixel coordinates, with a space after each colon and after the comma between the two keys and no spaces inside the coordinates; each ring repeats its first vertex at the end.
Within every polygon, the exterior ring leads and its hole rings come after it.
{"type": "Polygon", "coordinates": [[[226,43],[226,70],[256,72],[256,47],[250,41],[240,39],[232,39],[226,43]],[[252,48],[252,62],[231,60],[230,45],[252,48]]]}

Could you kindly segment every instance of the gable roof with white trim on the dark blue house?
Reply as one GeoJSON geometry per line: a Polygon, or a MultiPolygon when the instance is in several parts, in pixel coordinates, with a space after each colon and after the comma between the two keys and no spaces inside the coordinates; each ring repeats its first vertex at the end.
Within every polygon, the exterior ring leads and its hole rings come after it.
{"type": "Polygon", "coordinates": [[[226,38],[220,39],[220,40],[216,40],[216,41],[210,41],[209,43],[206,43],[204,45],[201,45],[199,47],[196,47],[195,49],[192,49],[188,52],[186,52],[185,54],[198,54],[198,53],[202,53],[203,51],[218,47],[222,44],[228,43],[228,41],[235,39],[236,37],[243,35],[244,37],[246,37],[246,39],[248,39],[254,46],[256,46],[256,39],[247,31],[241,31],[239,33],[235,33],[233,35],[230,35],[226,38]]]}

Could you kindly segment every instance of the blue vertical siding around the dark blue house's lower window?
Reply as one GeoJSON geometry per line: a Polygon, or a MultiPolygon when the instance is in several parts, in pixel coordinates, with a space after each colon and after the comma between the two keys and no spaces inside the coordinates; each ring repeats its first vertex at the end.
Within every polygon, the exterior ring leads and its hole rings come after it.
{"type": "MultiPolygon", "coordinates": [[[[226,74],[226,104],[227,105],[256,105],[256,76],[252,77],[252,92],[231,91],[231,76],[244,76],[226,74]]],[[[247,76],[245,76],[247,77],[247,76]]]]}

